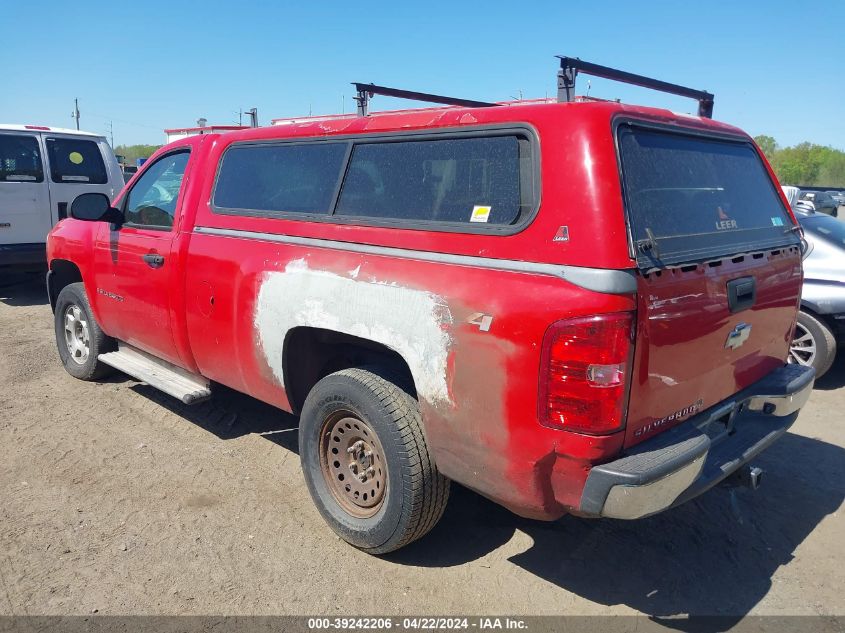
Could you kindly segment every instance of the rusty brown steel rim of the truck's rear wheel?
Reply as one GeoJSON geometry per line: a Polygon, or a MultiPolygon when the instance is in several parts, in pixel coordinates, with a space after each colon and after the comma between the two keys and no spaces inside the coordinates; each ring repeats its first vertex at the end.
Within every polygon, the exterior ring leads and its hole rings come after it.
{"type": "Polygon", "coordinates": [[[350,515],[366,519],[384,505],[387,464],[378,437],[351,411],[338,411],[320,430],[320,466],[335,501],[350,515]]]}

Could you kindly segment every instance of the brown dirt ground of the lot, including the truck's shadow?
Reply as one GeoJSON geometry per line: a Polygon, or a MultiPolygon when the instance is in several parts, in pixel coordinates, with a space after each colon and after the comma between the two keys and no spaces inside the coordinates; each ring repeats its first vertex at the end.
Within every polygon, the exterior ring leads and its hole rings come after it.
{"type": "Polygon", "coordinates": [[[41,277],[0,279],[0,615],[845,614],[845,354],[757,492],[540,523],[454,487],[374,558],[312,505],[291,416],[74,380],[52,328],[41,277]]]}

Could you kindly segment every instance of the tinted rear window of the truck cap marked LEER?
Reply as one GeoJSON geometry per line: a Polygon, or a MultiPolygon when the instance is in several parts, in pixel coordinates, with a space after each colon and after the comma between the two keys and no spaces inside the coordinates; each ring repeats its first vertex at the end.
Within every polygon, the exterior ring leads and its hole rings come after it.
{"type": "Polygon", "coordinates": [[[641,265],[798,242],[749,143],[623,125],[619,153],[641,265]]]}

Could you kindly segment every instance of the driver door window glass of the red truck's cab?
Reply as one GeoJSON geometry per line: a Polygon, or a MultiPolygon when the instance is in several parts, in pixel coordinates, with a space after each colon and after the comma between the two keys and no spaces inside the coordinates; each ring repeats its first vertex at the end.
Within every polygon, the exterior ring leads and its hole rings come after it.
{"type": "Polygon", "coordinates": [[[157,229],[173,226],[179,189],[190,154],[175,152],[158,159],[138,178],[126,197],[126,223],[157,229]]]}

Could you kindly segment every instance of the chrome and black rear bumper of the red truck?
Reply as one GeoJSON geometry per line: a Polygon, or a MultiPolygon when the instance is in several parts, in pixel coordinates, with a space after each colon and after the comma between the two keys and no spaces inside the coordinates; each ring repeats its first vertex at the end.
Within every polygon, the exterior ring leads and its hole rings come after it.
{"type": "Polygon", "coordinates": [[[700,495],[786,433],[814,379],[810,367],[785,365],[624,457],[593,467],[579,514],[638,519],[700,495]]]}

